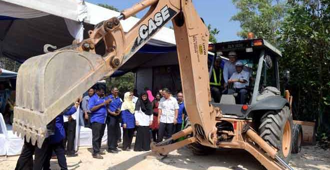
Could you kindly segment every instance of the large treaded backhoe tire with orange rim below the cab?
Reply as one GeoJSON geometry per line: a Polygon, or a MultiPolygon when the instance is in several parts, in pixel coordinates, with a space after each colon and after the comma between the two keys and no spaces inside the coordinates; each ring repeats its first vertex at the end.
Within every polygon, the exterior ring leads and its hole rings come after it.
{"type": "Polygon", "coordinates": [[[287,106],[280,111],[267,111],[260,119],[260,137],[274,146],[277,155],[286,162],[291,156],[292,127],[292,115],[287,106]]]}

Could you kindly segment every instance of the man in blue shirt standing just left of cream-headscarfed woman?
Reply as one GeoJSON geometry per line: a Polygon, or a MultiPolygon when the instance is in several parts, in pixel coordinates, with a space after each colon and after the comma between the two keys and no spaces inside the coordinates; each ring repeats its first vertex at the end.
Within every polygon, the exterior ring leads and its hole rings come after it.
{"type": "Polygon", "coordinates": [[[121,107],[121,99],[118,96],[118,88],[113,87],[111,89],[111,94],[108,96],[111,98],[111,103],[107,107],[107,117],[106,117],[106,125],[107,125],[107,151],[110,153],[118,153],[118,139],[120,138],[120,126],[119,126],[119,114],[121,107]]]}

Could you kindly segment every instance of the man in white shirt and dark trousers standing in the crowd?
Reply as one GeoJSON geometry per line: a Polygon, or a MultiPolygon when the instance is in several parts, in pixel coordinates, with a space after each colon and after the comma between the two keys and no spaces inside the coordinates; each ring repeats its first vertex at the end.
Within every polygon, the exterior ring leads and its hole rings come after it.
{"type": "Polygon", "coordinates": [[[169,137],[172,136],[179,108],[177,100],[171,96],[168,89],[163,89],[162,92],[163,97],[158,105],[158,142],[162,141],[165,131],[169,137]]]}

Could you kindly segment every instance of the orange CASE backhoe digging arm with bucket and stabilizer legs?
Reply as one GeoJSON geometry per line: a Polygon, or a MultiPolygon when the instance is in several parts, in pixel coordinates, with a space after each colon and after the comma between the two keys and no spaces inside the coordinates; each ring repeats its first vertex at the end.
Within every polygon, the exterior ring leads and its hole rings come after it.
{"type": "MultiPolygon", "coordinates": [[[[152,143],[152,151],[167,154],[192,143],[213,148],[241,148],[268,169],[290,169],[278,154],[289,148],[275,148],[254,131],[251,120],[223,117],[221,108],[210,102],[209,32],[195,11],[192,0],[143,0],[123,10],[118,17],[96,24],[93,30],[88,31],[89,38],[27,59],[17,75],[13,130],[41,147],[47,132],[46,125],[51,120],[95,82],[123,65],[170,20],[174,27],[184,103],[191,126],[165,141],[152,143]],[[120,20],[147,7],[149,10],[140,21],[124,32],[120,20]],[[103,55],[95,50],[99,44],[105,47],[103,55]],[[219,135],[219,123],[229,123],[232,129],[223,129],[219,135]],[[188,134],[192,135],[168,144],[170,140],[188,134]],[[228,140],[221,141],[223,138],[228,140]]],[[[290,123],[286,124],[288,131],[283,134],[290,137],[290,123]]]]}

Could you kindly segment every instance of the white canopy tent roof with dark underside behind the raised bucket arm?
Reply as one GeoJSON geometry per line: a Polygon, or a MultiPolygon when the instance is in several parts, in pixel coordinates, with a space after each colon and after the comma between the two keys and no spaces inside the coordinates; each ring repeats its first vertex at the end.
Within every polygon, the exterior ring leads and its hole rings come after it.
{"type": "MultiPolygon", "coordinates": [[[[119,14],[83,0],[0,0],[0,53],[23,62],[42,54],[44,44],[63,47],[87,38],[94,24],[119,14]]],[[[124,31],[138,20],[121,20],[124,31]]],[[[175,45],[173,30],[160,29],[148,44],[175,45]]]]}

